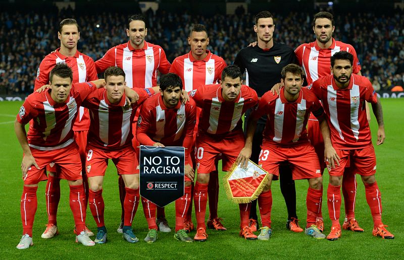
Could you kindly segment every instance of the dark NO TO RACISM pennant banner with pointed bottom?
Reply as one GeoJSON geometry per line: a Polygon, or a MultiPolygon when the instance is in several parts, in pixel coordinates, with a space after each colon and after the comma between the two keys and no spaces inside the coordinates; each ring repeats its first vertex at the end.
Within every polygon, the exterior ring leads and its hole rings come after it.
{"type": "Polygon", "coordinates": [[[140,146],[140,196],[164,207],[184,195],[185,148],[140,146]]]}

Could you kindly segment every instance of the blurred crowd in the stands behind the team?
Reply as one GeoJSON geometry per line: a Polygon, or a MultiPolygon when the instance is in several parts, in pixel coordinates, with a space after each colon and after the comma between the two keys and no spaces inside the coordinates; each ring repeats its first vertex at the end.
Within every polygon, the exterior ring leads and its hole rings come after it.
{"type": "MultiPolygon", "coordinates": [[[[254,15],[238,10],[237,15],[191,16],[165,11],[145,14],[146,41],[161,45],[170,62],[189,52],[187,37],[194,23],[206,25],[209,49],[231,64],[239,49],[256,41],[254,15]]],[[[275,15],[277,42],[296,48],[312,42],[313,14],[275,15]]],[[[72,10],[0,13],[0,94],[29,94],[42,58],[59,47],[58,25],[62,18],[75,18],[80,25],[78,50],[94,61],[112,46],[128,41],[127,16],[117,13],[77,15],[72,10]],[[98,26],[97,26],[98,25],[98,26]]],[[[362,75],[374,88],[390,90],[404,86],[404,14],[394,10],[389,16],[375,13],[335,14],[334,38],[352,44],[362,65],[362,75]]]]}

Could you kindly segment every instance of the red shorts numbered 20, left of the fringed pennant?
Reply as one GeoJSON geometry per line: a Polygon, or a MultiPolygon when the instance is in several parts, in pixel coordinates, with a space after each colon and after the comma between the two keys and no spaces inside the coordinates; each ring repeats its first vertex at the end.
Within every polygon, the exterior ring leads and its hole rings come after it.
{"type": "Polygon", "coordinates": [[[228,171],[244,147],[244,135],[242,131],[228,137],[212,137],[199,133],[195,146],[198,174],[216,170],[215,157],[219,154],[222,154],[222,170],[228,171]]]}

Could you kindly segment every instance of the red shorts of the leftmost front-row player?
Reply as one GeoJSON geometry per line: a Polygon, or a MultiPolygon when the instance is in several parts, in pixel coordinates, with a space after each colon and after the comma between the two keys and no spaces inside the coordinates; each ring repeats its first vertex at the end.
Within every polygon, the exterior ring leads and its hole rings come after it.
{"type": "Polygon", "coordinates": [[[35,166],[31,166],[27,172],[27,176],[24,179],[24,184],[37,184],[39,181],[47,180],[46,166],[58,165],[58,175],[60,179],[66,180],[79,180],[81,179],[81,160],[79,150],[76,143],[53,150],[53,151],[41,151],[34,148],[30,148],[32,156],[35,158],[40,170],[35,166]]]}

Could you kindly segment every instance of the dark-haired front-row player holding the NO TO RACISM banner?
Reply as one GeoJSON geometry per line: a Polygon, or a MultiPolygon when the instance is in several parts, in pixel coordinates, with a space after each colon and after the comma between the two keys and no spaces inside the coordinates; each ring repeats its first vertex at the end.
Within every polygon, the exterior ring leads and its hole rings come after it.
{"type": "MultiPolygon", "coordinates": [[[[160,81],[161,95],[154,95],[142,105],[136,137],[140,144],[148,146],[179,146],[185,148],[185,187],[184,195],[175,201],[174,238],[184,242],[193,242],[184,230],[184,218],[191,202],[191,181],[193,182],[192,161],[189,153],[192,148],[193,129],[196,120],[194,101],[182,104],[181,79],[169,73],[160,81]]],[[[156,241],[156,205],[142,198],[144,216],[149,231],[144,239],[147,243],[156,241]]]]}

